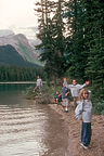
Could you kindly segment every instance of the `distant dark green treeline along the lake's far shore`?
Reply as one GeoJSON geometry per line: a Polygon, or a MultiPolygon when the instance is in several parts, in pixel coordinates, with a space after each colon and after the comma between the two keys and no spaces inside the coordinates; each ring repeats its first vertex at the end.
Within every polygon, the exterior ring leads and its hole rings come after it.
{"type": "Polygon", "coordinates": [[[41,67],[18,67],[10,65],[0,65],[0,81],[35,81],[37,75],[44,78],[41,67]]]}

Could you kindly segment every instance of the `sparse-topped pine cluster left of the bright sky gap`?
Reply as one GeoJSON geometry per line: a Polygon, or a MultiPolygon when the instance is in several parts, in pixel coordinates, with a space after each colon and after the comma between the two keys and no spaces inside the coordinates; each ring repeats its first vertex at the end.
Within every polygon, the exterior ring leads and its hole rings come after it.
{"type": "Polygon", "coordinates": [[[38,38],[41,44],[37,48],[42,48],[41,61],[46,62],[44,72],[48,78],[52,78],[56,86],[56,78],[62,77],[67,69],[65,58],[65,23],[63,20],[64,1],[53,2],[42,0],[37,3],[39,13],[39,34],[38,38]],[[53,9],[53,10],[52,10],[53,9]],[[53,16],[51,17],[51,14],[53,16]]]}

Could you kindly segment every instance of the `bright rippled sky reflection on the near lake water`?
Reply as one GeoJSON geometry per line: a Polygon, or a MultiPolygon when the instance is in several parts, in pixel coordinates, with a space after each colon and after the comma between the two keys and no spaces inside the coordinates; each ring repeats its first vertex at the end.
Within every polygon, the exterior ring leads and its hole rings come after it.
{"type": "Polygon", "coordinates": [[[0,105],[0,156],[42,155],[47,151],[47,116],[36,106],[29,108],[0,105]]]}

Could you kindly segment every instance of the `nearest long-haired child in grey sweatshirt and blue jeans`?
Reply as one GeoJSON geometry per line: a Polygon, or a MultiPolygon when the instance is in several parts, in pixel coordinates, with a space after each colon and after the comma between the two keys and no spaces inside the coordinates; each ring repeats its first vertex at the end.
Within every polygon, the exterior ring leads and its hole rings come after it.
{"type": "Polygon", "coordinates": [[[81,146],[87,150],[91,141],[92,103],[89,99],[89,91],[86,89],[80,91],[75,116],[77,119],[82,119],[81,146]]]}

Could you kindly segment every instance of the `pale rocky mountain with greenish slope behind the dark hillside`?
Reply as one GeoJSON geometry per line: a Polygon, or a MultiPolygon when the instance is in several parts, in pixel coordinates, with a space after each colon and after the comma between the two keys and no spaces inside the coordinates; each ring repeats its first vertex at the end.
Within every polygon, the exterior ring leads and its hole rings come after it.
{"type": "Polygon", "coordinates": [[[11,30],[0,30],[0,46],[11,44],[18,54],[27,62],[42,65],[39,61],[39,52],[35,50],[28,39],[22,35],[15,35],[11,30]]]}

